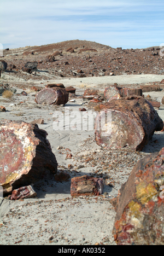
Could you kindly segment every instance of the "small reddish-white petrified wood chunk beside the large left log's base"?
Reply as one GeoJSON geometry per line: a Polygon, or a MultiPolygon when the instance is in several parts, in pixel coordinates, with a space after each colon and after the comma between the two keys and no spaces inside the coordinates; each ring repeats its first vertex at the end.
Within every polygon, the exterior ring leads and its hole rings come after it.
{"type": "Polygon", "coordinates": [[[19,200],[35,196],[37,196],[37,193],[33,190],[33,188],[30,185],[13,190],[10,200],[19,200]]]}

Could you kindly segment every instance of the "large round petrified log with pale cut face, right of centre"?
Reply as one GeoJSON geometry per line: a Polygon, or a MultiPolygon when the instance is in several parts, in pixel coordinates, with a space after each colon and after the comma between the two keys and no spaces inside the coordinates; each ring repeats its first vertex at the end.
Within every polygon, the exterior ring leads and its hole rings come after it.
{"type": "Polygon", "coordinates": [[[98,110],[101,111],[95,119],[95,139],[104,148],[128,147],[141,151],[154,132],[163,129],[163,121],[156,110],[140,96],[100,104],[98,110]],[[112,119],[109,115],[107,120],[108,113],[112,113],[112,119]]]}

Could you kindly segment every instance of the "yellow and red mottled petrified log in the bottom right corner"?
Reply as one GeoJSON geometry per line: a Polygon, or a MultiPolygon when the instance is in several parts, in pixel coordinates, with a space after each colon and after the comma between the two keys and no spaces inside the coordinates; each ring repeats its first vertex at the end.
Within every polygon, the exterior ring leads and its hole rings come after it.
{"type": "Polygon", "coordinates": [[[113,228],[118,245],[164,245],[163,163],[164,148],[141,159],[122,185],[113,228]]]}

